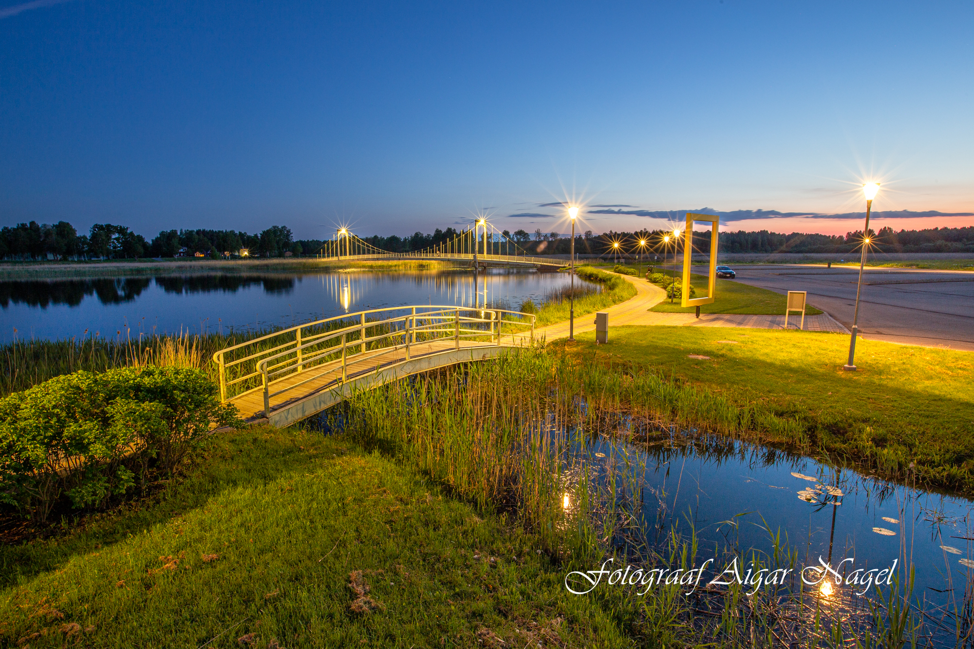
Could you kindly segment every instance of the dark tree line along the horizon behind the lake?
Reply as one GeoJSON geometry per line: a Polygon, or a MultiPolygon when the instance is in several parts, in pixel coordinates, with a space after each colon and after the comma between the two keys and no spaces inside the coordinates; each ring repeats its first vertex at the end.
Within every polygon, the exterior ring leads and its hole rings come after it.
{"type": "MultiPolygon", "coordinates": [[[[459,234],[460,231],[448,227],[445,230],[436,228],[432,234],[415,232],[407,237],[373,235],[361,239],[381,250],[410,252],[448,242],[459,234]]],[[[602,234],[588,230],[576,236],[575,251],[579,254],[612,254],[614,250],[634,253],[639,251],[638,242],[645,241],[646,246],[642,248],[646,252],[662,253],[673,250],[672,238],[669,243],[663,242],[663,237],[671,234],[666,230],[610,230],[602,234]]],[[[974,252],[974,227],[899,231],[883,227],[879,232],[871,229],[869,236],[873,249],[880,252],[974,252]]],[[[571,249],[570,237],[541,229],[534,233],[521,229],[512,233],[505,230],[503,237],[491,235],[491,252],[506,249],[503,248],[503,238],[515,242],[527,254],[568,254],[571,249]]],[[[682,239],[681,236],[681,242],[682,239]]],[[[843,253],[859,248],[862,231],[847,232],[845,236],[781,234],[768,230],[721,232],[719,241],[721,252],[843,253]]],[[[182,255],[216,258],[236,256],[242,251],[250,256],[312,256],[324,244],[324,241],[315,239],[295,240],[290,228],[283,225],[274,225],[255,234],[235,230],[164,230],[151,242],[124,225],[110,223],[96,223],[88,234],[81,235],[67,221],[58,221],[54,225],[30,221],[0,229],[0,258],[19,260],[138,259],[182,255]]],[[[710,235],[694,232],[693,248],[709,252],[710,235]]]]}

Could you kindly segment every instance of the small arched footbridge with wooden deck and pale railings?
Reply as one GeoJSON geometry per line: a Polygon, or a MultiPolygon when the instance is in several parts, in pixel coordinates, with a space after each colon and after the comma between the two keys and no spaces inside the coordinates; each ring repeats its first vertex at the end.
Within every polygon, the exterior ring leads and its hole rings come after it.
{"type": "Polygon", "coordinates": [[[535,316],[506,309],[374,309],[275,331],[216,352],[220,399],[247,423],[283,427],[356,391],[534,339],[535,316]]]}

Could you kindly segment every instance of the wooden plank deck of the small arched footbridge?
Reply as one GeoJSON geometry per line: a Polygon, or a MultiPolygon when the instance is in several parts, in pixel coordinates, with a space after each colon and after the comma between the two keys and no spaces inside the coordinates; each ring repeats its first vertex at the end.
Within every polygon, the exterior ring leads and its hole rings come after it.
{"type": "Polygon", "coordinates": [[[271,412],[264,412],[264,391],[251,390],[229,401],[234,403],[247,423],[269,421],[283,427],[317,414],[356,390],[369,390],[391,381],[456,363],[497,358],[516,344],[507,337],[501,344],[462,340],[460,349],[453,339],[417,342],[409,346],[406,360],[404,345],[368,350],[364,354],[348,355],[345,379],[342,379],[341,359],[306,368],[270,384],[271,412]],[[277,398],[274,394],[287,390],[277,398]]]}

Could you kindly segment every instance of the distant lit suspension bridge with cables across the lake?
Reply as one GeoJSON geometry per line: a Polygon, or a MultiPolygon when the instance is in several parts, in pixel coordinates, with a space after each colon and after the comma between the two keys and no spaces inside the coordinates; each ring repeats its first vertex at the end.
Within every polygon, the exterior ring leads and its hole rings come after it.
{"type": "Polygon", "coordinates": [[[360,239],[348,228],[339,228],[335,236],[318,250],[318,259],[336,261],[453,261],[482,266],[535,266],[564,268],[568,259],[531,256],[505,233],[499,232],[486,219],[430,248],[408,252],[390,252],[360,239]]]}

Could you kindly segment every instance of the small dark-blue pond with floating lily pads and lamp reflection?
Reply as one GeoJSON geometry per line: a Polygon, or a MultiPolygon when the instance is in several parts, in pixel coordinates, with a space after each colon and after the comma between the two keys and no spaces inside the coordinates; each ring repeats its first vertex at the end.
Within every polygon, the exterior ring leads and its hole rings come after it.
{"type": "MultiPolygon", "coordinates": [[[[716,570],[706,578],[713,579],[735,556],[742,574],[755,552],[767,559],[774,552],[771,535],[780,532],[779,545],[795,557],[796,573],[824,561],[848,580],[857,569],[895,565],[902,586],[914,566],[912,600],[925,611],[922,635],[931,646],[955,646],[958,627],[961,634],[971,631],[970,500],[767,446],[693,432],[679,435],[675,429],[657,430],[648,443],[598,436],[583,449],[576,445],[566,461],[571,467],[566,488],[577,489],[587,475],[590,492],[603,498],[615,494],[606,506],[615,501],[618,511],[635,514],[635,532],[611,535],[627,554],[665,548],[674,526],[684,538],[693,530],[699,542],[696,565],[714,558],[716,570]]],[[[798,581],[790,585],[795,591],[798,581]]],[[[847,582],[834,588],[828,596],[820,587],[804,590],[849,613],[867,611],[867,598],[877,597],[874,590],[847,582]],[[859,594],[864,590],[865,595],[859,594]]]]}

